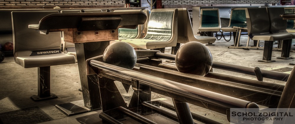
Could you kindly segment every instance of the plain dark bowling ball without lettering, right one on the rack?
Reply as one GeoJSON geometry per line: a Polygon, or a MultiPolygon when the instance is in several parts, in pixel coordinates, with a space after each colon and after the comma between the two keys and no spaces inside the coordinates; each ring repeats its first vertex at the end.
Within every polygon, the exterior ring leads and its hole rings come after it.
{"type": "Polygon", "coordinates": [[[175,63],[179,72],[205,76],[212,67],[212,54],[200,42],[183,44],[176,53],[175,63]]]}

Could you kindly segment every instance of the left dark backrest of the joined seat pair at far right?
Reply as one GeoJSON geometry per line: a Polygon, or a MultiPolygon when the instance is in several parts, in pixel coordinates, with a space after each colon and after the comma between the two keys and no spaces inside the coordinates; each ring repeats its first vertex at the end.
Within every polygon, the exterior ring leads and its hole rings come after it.
{"type": "Polygon", "coordinates": [[[252,39],[255,35],[271,34],[266,8],[246,8],[248,35],[252,39]]]}

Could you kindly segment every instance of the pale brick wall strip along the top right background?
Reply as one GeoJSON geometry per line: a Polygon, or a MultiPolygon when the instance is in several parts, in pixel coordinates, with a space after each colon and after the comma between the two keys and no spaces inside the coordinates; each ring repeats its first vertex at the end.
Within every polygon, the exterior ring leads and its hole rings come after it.
{"type": "Polygon", "coordinates": [[[280,3],[280,0],[162,0],[163,5],[181,4],[265,4],[280,3]]]}

